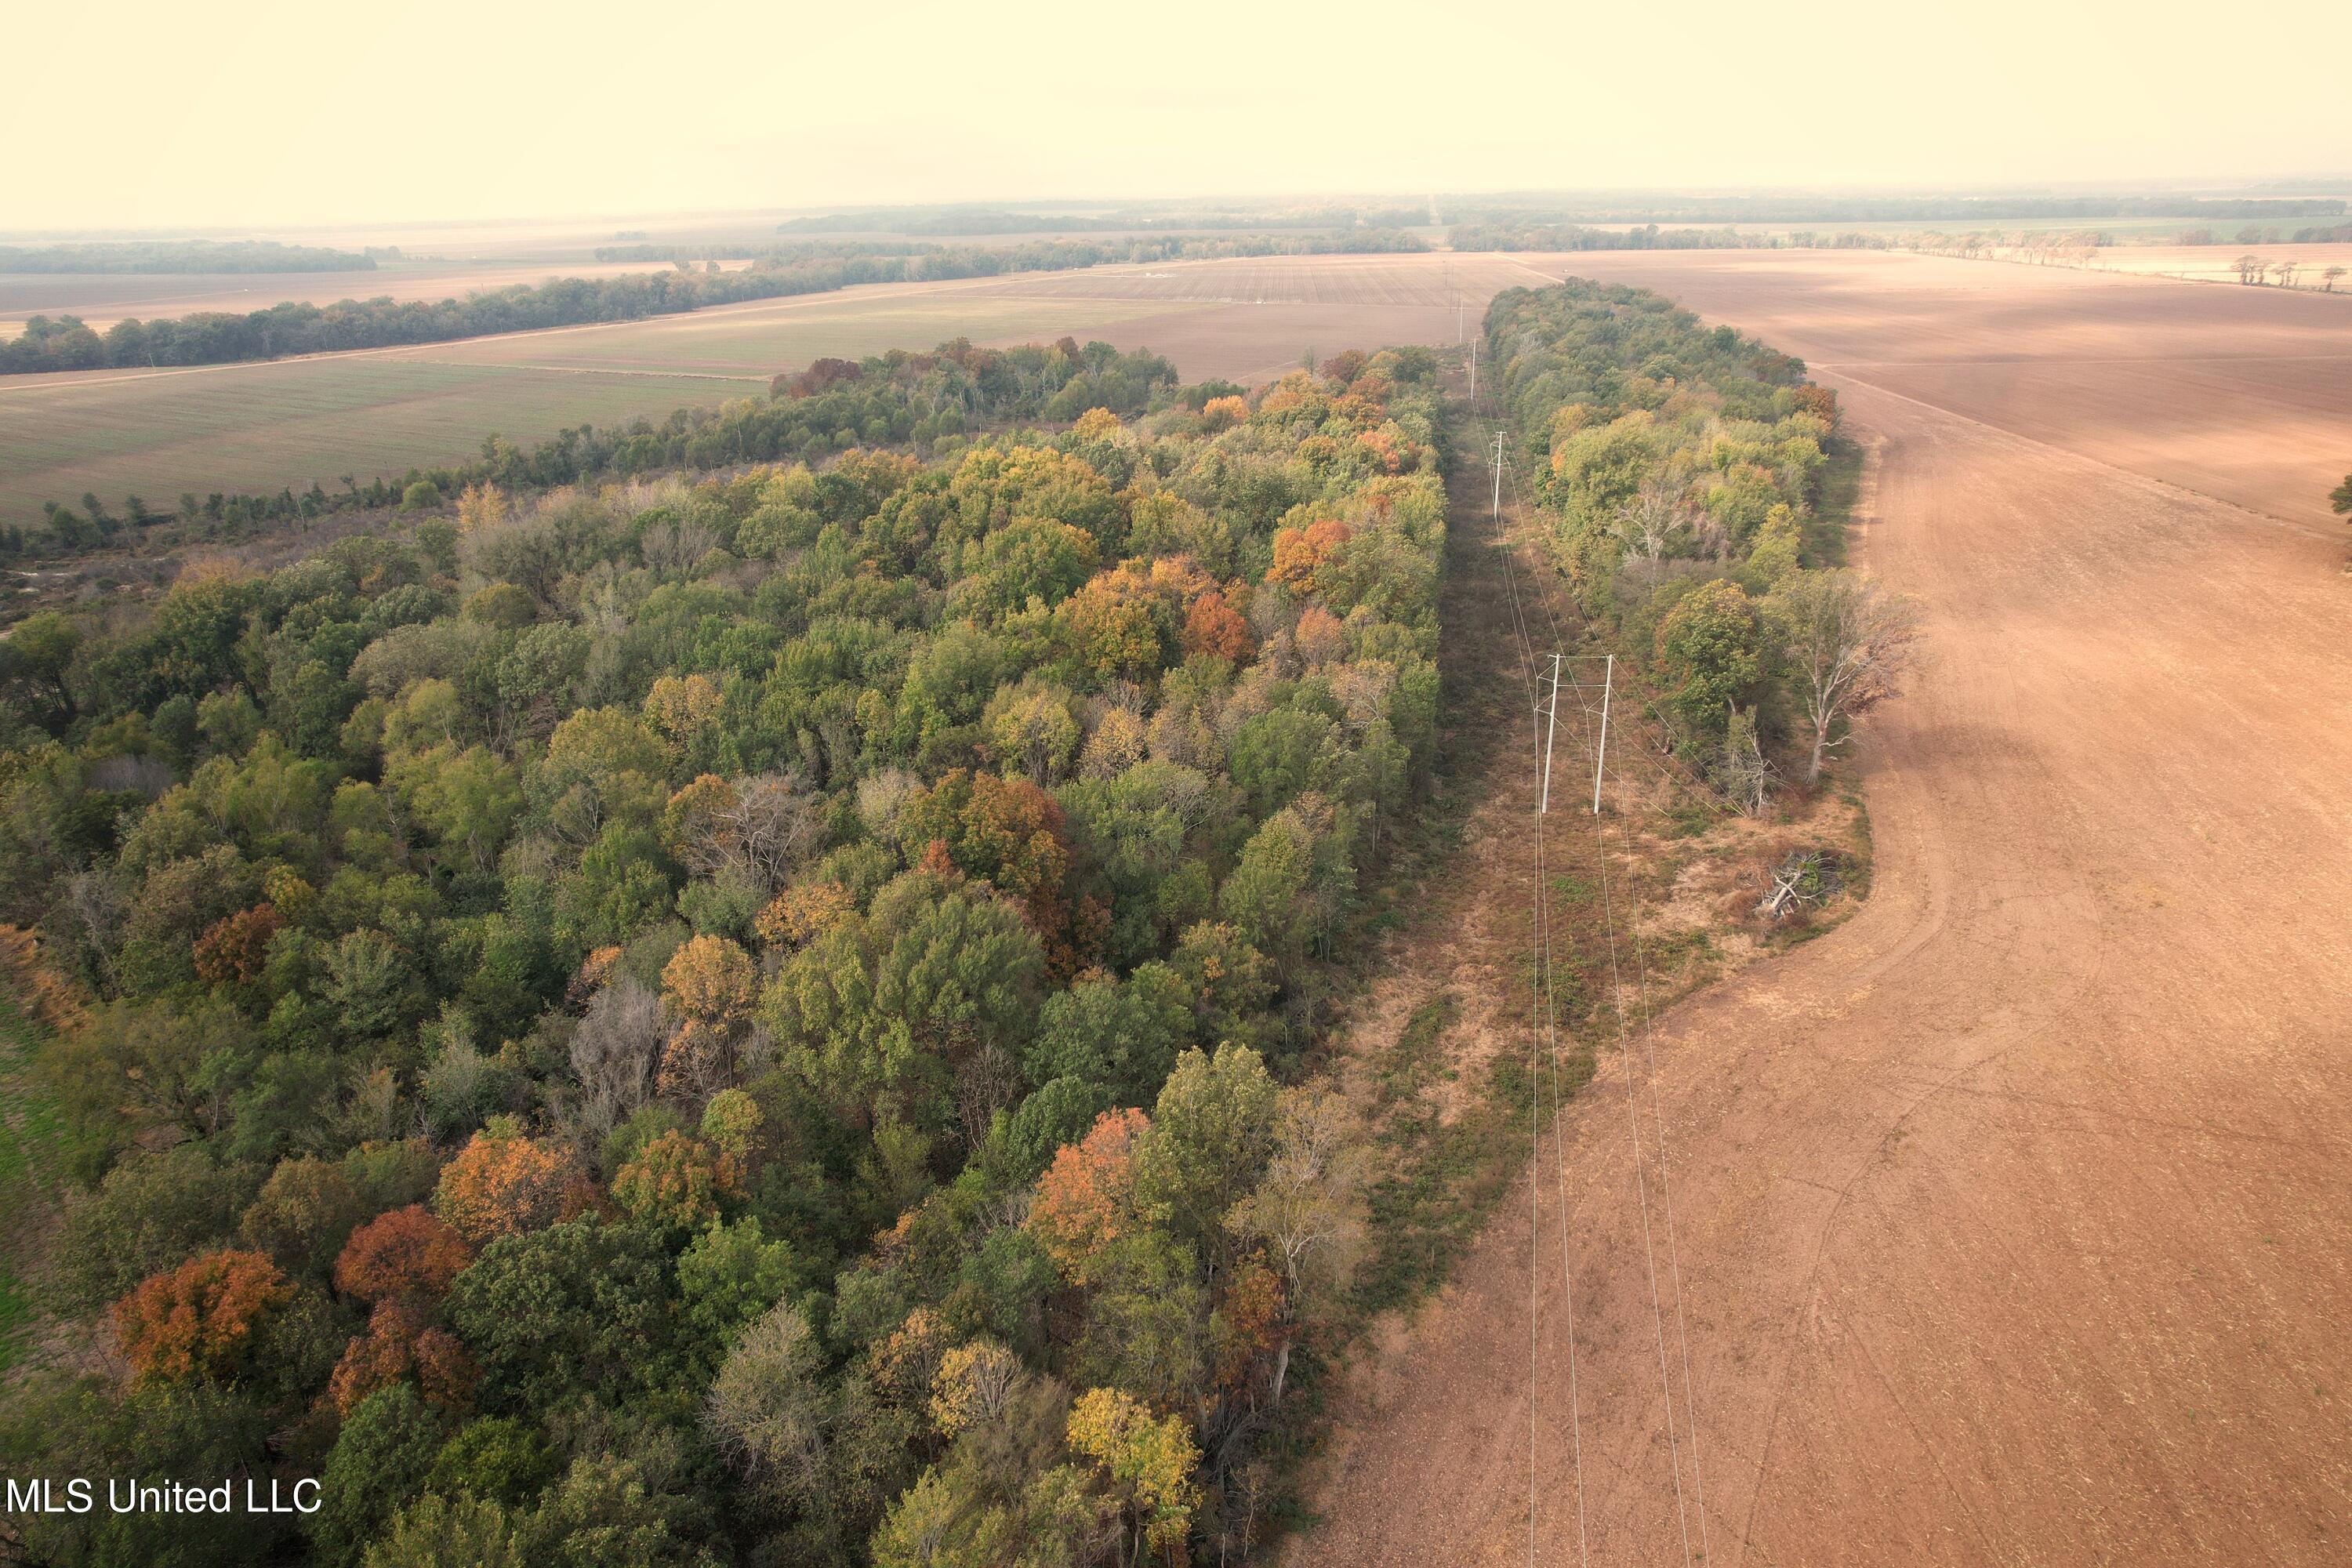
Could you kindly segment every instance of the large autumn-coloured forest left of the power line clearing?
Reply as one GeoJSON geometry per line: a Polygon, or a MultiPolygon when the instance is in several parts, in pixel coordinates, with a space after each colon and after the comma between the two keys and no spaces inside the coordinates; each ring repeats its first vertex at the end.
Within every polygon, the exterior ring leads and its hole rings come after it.
{"type": "Polygon", "coordinates": [[[494,461],[454,522],[0,644],[87,1347],[7,1472],[322,1481],[33,1559],[1263,1533],[1364,1204],[1301,1056],[1432,762],[1435,364],[870,360],[757,430],[811,409],[823,463],[739,461],[750,416],[703,477],[494,461]],[[953,433],[990,378],[1070,423],[953,433]]]}

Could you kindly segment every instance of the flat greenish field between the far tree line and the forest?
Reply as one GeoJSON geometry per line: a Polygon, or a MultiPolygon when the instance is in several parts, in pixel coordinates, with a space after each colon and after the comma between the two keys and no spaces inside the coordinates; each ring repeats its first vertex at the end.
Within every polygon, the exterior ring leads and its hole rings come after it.
{"type": "Polygon", "coordinates": [[[480,451],[492,430],[532,442],[567,425],[659,418],[767,393],[776,371],[858,357],[1061,334],[1084,339],[1174,301],[1018,299],[941,284],[762,301],[649,322],[433,348],[193,371],[0,378],[0,522],[94,491],[169,508],[181,491],[336,489],[480,451]]]}

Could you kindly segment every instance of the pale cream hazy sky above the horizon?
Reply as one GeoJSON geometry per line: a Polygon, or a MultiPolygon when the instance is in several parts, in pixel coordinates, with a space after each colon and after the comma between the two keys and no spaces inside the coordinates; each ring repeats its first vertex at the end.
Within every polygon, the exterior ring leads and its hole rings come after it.
{"type": "Polygon", "coordinates": [[[2352,7],[26,0],[0,228],[2352,169],[2352,7]]]}

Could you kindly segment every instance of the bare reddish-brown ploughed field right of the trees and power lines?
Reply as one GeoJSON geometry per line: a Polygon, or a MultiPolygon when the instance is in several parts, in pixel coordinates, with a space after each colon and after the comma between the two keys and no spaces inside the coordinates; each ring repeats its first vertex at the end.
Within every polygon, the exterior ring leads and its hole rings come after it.
{"type": "Polygon", "coordinates": [[[1872,724],[1870,905],[1663,1016],[1653,1079],[1602,1044],[1564,1180],[1359,1380],[1289,1561],[2352,1559],[2352,581],[2307,482],[2352,458],[2352,310],[1576,270],[1820,367],[1933,665],[1872,724]],[[2281,371],[2321,407],[2270,428],[2234,360],[2324,364],[2281,371]]]}

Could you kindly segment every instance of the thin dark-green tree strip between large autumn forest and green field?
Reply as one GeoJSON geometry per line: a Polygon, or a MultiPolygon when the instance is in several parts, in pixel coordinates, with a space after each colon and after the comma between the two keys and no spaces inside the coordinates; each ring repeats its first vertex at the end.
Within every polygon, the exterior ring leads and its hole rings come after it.
{"type": "Polygon", "coordinates": [[[1155,353],[1120,353],[1110,343],[1073,339],[1025,348],[974,348],[957,339],[934,353],[891,350],[868,360],[818,360],[800,374],[776,376],[767,402],[722,409],[675,409],[595,430],[579,425],[546,442],[517,447],[503,435],[482,442],[470,463],[416,470],[367,484],[346,475],[343,489],[278,494],[183,494],[179,510],[155,510],[129,496],[122,512],[96,496],[82,508],[47,503],[45,522],[0,529],[0,559],[99,550],[125,534],[179,522],[200,538],[238,541],[263,524],[306,522],[334,512],[390,508],[433,510],[475,484],[508,494],[546,491],[583,480],[640,477],[670,468],[734,463],[823,461],[849,447],[917,444],[990,423],[1065,423],[1084,409],[1136,414],[1176,386],[1176,367],[1155,353]]]}

